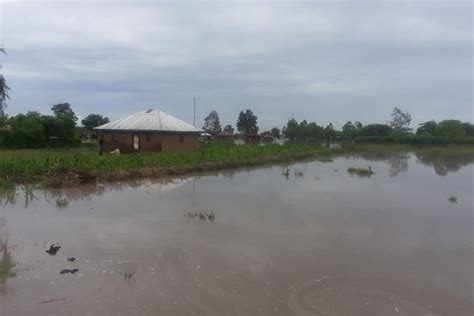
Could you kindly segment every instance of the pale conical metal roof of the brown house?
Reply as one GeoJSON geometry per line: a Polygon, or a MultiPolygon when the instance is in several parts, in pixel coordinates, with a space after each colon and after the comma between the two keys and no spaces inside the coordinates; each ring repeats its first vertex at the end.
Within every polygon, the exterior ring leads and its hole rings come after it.
{"type": "Polygon", "coordinates": [[[141,111],[121,120],[95,128],[96,130],[160,131],[178,133],[200,133],[200,129],[162,111],[141,111]]]}

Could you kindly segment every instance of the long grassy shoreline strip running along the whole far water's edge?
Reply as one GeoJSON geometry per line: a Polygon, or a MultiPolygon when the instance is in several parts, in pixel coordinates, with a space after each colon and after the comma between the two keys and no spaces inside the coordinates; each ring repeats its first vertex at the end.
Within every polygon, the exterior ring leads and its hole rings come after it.
{"type": "Polygon", "coordinates": [[[247,146],[216,144],[188,153],[131,154],[98,156],[94,149],[71,151],[10,151],[0,158],[0,192],[18,185],[44,188],[67,188],[87,184],[182,177],[202,172],[239,170],[246,167],[271,166],[301,161],[328,160],[337,156],[358,156],[378,153],[384,156],[395,151],[429,151],[431,154],[474,154],[470,145],[380,145],[340,144],[327,148],[321,145],[247,146]],[[105,167],[104,167],[105,166],[105,167]],[[34,169],[36,168],[36,169],[34,169]],[[2,177],[3,176],[3,177],[2,177]]]}

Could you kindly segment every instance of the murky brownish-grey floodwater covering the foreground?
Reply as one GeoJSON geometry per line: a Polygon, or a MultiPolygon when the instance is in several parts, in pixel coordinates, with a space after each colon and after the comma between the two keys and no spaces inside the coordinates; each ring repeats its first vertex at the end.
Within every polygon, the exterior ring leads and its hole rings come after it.
{"type": "Polygon", "coordinates": [[[1,200],[17,277],[0,314],[472,315],[472,163],[381,151],[23,188],[1,200]]]}

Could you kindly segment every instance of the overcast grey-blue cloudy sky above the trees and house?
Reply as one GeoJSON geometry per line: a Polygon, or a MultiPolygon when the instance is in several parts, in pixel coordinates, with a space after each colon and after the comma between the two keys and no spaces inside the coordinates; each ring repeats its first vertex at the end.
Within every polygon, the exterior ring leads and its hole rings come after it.
{"type": "MultiPolygon", "coordinates": [[[[1,0],[0,0],[1,1],[1,0]]],[[[8,113],[473,120],[471,1],[1,1],[8,113]]]]}

